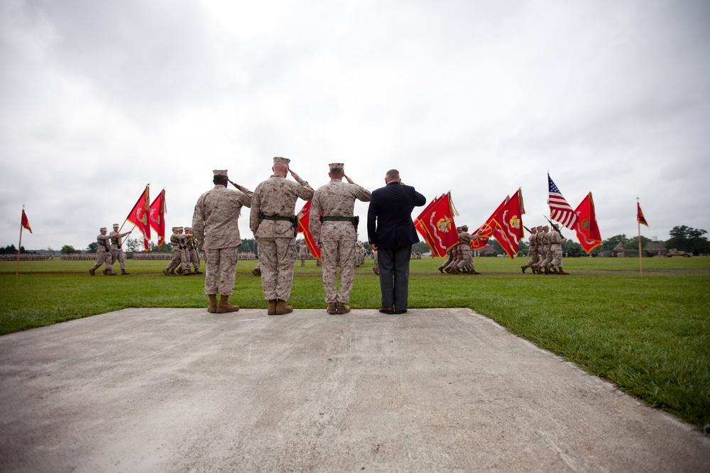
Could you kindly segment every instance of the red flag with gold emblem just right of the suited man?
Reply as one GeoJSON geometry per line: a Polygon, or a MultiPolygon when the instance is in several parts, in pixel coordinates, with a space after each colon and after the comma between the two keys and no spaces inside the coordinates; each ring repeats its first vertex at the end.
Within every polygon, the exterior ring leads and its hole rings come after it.
{"type": "Polygon", "coordinates": [[[459,243],[455,213],[451,193],[448,192],[432,201],[415,219],[414,226],[432,250],[432,257],[443,257],[450,247],[459,243]]]}

